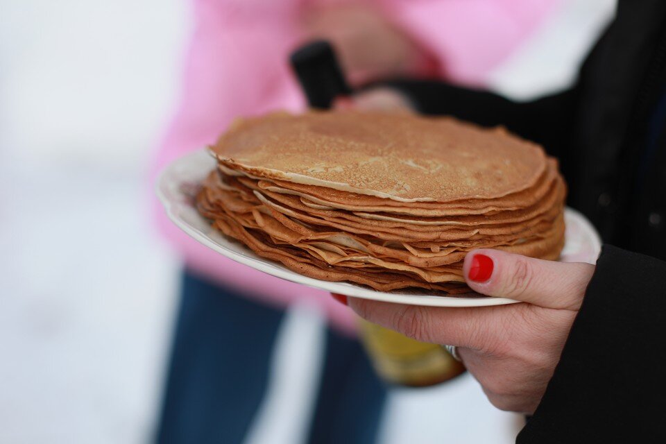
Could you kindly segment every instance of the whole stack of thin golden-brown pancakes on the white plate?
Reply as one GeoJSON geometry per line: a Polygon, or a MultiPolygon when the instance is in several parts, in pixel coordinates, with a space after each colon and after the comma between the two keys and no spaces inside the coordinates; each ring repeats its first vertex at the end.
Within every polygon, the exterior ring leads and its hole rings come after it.
{"type": "Polygon", "coordinates": [[[554,260],[564,244],[556,160],[503,128],[280,112],[234,123],[210,150],[200,213],[311,278],[465,293],[470,250],[554,260]]]}

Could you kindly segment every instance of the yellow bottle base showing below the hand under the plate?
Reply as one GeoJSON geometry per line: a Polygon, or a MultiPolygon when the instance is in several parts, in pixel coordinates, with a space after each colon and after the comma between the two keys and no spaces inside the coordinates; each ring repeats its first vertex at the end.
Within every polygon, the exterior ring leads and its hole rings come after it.
{"type": "Polygon", "coordinates": [[[398,386],[440,384],[465,372],[441,345],[419,342],[361,319],[361,341],[384,381],[398,386]]]}

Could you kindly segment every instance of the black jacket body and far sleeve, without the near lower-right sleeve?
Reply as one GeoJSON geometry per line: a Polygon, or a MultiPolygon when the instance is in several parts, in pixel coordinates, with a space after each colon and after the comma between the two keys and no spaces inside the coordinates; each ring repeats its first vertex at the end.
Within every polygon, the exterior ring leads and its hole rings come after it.
{"type": "Polygon", "coordinates": [[[583,212],[605,242],[665,259],[666,158],[660,153],[666,141],[663,126],[650,128],[665,82],[666,1],[620,0],[617,18],[565,92],[517,103],[437,82],[384,84],[427,114],[501,124],[543,144],[561,162],[567,205],[583,212]],[[638,177],[649,137],[658,141],[654,161],[638,177]],[[636,183],[645,178],[649,184],[638,196],[636,183]]]}

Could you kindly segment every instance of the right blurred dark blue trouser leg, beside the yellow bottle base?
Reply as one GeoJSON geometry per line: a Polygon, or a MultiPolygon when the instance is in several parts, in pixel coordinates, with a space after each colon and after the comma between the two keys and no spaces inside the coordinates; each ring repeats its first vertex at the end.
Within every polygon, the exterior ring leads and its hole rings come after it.
{"type": "Polygon", "coordinates": [[[355,339],[328,330],[323,384],[308,443],[371,444],[377,440],[386,386],[355,339]]]}

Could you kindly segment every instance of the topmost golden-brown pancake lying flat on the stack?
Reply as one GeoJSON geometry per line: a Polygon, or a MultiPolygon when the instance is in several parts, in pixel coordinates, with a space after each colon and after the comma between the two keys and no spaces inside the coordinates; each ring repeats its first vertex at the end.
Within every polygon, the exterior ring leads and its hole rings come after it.
{"type": "Polygon", "coordinates": [[[400,202],[493,199],[536,184],[543,149],[451,117],[285,112],[237,122],[212,153],[258,178],[400,202]]]}

